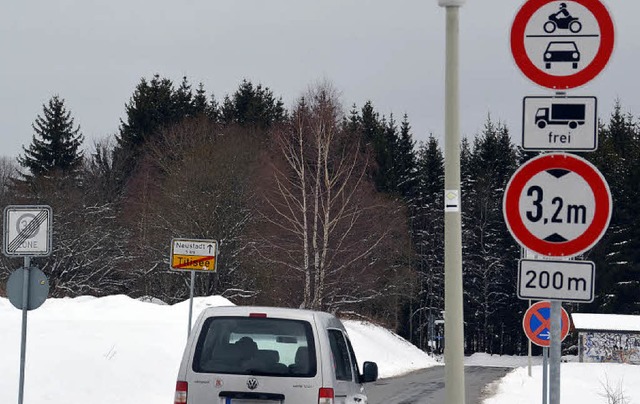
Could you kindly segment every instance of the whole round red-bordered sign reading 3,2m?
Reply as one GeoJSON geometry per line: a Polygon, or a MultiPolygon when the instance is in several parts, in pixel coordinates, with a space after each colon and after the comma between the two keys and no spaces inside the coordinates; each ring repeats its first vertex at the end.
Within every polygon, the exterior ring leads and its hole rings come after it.
{"type": "Polygon", "coordinates": [[[516,241],[551,257],[573,257],[593,247],[607,230],[611,212],[611,191],[600,171],[565,153],[522,165],[503,200],[505,222],[516,241]]]}

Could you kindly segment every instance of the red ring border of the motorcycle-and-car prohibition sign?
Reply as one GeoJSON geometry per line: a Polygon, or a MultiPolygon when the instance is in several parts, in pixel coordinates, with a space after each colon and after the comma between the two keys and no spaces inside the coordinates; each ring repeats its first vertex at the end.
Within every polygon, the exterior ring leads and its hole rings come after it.
{"type": "MultiPolygon", "coordinates": [[[[579,4],[588,9],[599,26],[599,46],[593,60],[575,74],[555,75],[545,72],[531,60],[525,47],[527,25],[531,17],[541,7],[550,3],[559,4],[556,0],[529,0],[518,11],[511,27],[511,53],[520,70],[534,83],[550,89],[568,89],[582,86],[595,78],[606,66],[613,53],[615,29],[609,11],[599,0],[567,0],[566,3],[579,4]]],[[[571,32],[571,31],[569,31],[571,32]]],[[[555,33],[555,32],[554,32],[555,33]]],[[[542,37],[542,35],[537,35],[542,37]]],[[[560,37],[560,35],[556,35],[560,37]]],[[[571,35],[564,35],[571,37],[571,35]]],[[[586,35],[573,35],[575,37],[586,35]]],[[[567,38],[560,38],[561,42],[567,38]]],[[[570,39],[570,38],[569,38],[570,39]]],[[[542,55],[540,55],[542,57],[542,55]]]]}

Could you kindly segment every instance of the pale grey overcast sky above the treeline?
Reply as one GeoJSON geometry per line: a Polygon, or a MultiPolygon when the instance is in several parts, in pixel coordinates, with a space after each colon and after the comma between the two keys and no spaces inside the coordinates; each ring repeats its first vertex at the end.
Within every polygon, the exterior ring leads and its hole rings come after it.
{"type": "MultiPolygon", "coordinates": [[[[560,2],[557,2],[558,4],[560,2]]],[[[605,0],[616,49],[603,73],[569,95],[616,98],[640,116],[640,1],[605,0]]],[[[487,115],[518,139],[522,98],[551,95],[517,69],[509,34],[519,0],[468,0],[461,9],[461,130],[487,115]]],[[[571,4],[569,2],[569,4],[571,4]]],[[[55,94],[94,140],[114,136],[142,77],[187,76],[218,99],[243,78],[285,104],[328,79],[345,110],[371,100],[409,115],[416,140],[442,140],[445,10],[437,0],[32,0],[0,12],[0,155],[31,143],[31,124],[55,94]]],[[[441,143],[442,145],[442,143],[441,143]]]]}

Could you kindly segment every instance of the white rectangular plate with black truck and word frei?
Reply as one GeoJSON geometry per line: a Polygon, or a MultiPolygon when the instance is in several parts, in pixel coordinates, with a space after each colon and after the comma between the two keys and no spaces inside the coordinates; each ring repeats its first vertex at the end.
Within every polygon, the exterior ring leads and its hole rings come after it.
{"type": "Polygon", "coordinates": [[[593,151],[598,148],[596,97],[524,97],[524,150],[593,151]]]}

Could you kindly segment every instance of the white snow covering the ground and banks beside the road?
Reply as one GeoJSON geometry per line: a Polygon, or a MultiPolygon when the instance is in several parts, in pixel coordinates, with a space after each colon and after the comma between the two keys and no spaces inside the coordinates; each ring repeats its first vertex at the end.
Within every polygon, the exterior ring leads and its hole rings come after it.
{"type": "MultiPolygon", "coordinates": [[[[228,305],[220,297],[197,298],[205,307],[228,305]]],[[[187,336],[188,302],[173,306],[126,296],[49,299],[29,312],[25,404],[156,404],[173,399],[187,336]]],[[[21,312],[0,298],[0,403],[18,397],[21,312]]],[[[360,362],[378,363],[381,377],[439,365],[397,335],[369,323],[345,322],[360,362]]],[[[541,366],[534,358],[474,355],[467,365],[514,367],[492,386],[485,404],[540,403],[541,366]]],[[[563,403],[607,403],[605,386],[640,403],[640,366],[567,363],[563,403]]],[[[622,402],[620,404],[623,404],[622,402]]]]}

